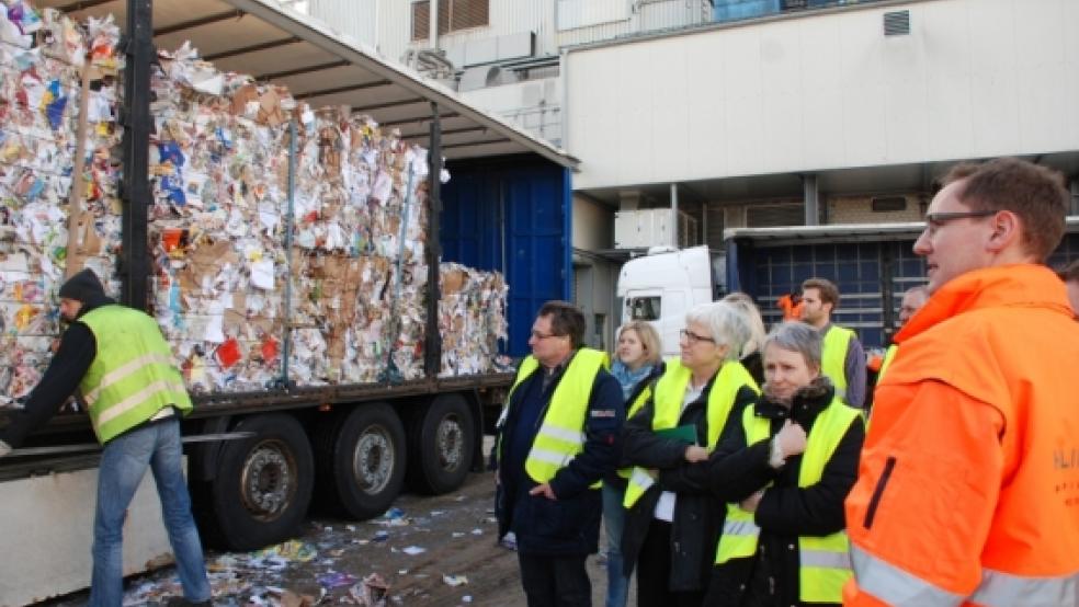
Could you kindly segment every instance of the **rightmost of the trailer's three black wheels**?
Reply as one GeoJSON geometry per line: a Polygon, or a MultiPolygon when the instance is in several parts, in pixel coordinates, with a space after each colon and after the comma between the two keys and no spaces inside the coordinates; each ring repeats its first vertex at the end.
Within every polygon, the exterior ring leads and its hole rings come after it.
{"type": "Polygon", "coordinates": [[[472,469],[476,424],[461,394],[440,394],[412,420],[409,486],[439,495],[459,488],[472,469]]]}

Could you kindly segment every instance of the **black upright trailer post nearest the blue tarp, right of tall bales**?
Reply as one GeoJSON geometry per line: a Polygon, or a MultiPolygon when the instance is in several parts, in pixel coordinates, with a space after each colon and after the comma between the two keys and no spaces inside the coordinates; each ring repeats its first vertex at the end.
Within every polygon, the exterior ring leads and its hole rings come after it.
{"type": "Polygon", "coordinates": [[[442,259],[442,119],[439,104],[431,102],[431,148],[428,150],[428,297],[427,332],[423,337],[423,375],[436,378],[442,368],[442,334],[439,332],[439,262],[442,259]]]}

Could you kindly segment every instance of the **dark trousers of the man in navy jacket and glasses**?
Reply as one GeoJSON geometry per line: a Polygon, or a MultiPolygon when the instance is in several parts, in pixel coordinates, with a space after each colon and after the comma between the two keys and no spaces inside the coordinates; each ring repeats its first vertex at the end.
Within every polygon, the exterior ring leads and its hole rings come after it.
{"type": "Polygon", "coordinates": [[[548,557],[522,554],[521,585],[529,607],[591,607],[592,584],[584,559],[588,554],[548,557]]]}

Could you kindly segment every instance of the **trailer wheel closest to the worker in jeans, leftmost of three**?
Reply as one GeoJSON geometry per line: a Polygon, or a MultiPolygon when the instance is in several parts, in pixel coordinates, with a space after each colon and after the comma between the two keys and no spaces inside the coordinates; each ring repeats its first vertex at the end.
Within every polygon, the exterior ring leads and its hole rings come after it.
{"type": "Polygon", "coordinates": [[[234,430],[254,436],[222,450],[211,490],[216,528],[227,547],[254,550],[288,538],[304,520],[314,457],[303,426],[289,415],[253,415],[234,430]]]}

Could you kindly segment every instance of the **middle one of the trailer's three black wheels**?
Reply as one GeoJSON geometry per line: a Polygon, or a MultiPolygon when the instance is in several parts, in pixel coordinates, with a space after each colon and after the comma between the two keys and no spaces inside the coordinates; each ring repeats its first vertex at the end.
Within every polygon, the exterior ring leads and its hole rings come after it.
{"type": "Polygon", "coordinates": [[[323,421],[316,449],[321,496],[359,520],[386,512],[405,484],[405,426],[386,403],[323,421]]]}

